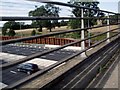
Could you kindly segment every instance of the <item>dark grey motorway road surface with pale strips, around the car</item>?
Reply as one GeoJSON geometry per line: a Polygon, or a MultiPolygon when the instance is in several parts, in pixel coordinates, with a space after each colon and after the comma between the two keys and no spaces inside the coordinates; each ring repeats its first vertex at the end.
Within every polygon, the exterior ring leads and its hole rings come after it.
{"type": "MultiPolygon", "coordinates": [[[[15,44],[4,45],[1,48],[2,48],[2,52],[0,52],[0,57],[1,57],[0,64],[13,62],[21,58],[24,58],[28,55],[32,55],[34,53],[43,52],[50,49],[48,47],[40,47],[36,45],[28,46],[28,45],[15,45],[15,44]]],[[[43,69],[76,52],[77,52],[76,50],[62,49],[62,50],[58,50],[53,53],[41,56],[39,58],[32,59],[27,62],[35,63],[39,66],[40,69],[43,69]]],[[[15,83],[16,81],[21,80],[28,76],[26,73],[18,72],[16,67],[17,65],[10,67],[8,69],[5,69],[3,71],[0,70],[0,73],[2,75],[2,79],[0,79],[0,88],[10,85],[12,83],[15,83]]]]}

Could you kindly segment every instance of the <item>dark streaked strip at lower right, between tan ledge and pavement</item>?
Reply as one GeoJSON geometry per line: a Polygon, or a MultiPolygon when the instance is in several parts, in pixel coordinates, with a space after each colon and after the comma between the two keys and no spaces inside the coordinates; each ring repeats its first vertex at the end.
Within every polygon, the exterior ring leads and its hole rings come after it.
{"type": "MultiPolygon", "coordinates": [[[[72,74],[72,72],[74,73],[74,71],[79,70],[80,67],[84,67],[85,64],[89,63],[91,61],[91,59],[93,59],[91,62],[92,64],[94,63],[94,60],[96,61],[97,59],[94,59],[96,56],[99,57],[100,53],[101,52],[104,52],[105,50],[108,50],[108,48],[111,48],[113,49],[113,51],[111,53],[109,53],[107,55],[106,58],[104,59],[99,59],[97,61],[97,65],[95,65],[95,67],[93,66],[92,69],[89,68],[89,64],[88,64],[88,67],[86,67],[88,70],[87,71],[90,71],[90,72],[86,72],[86,68],[83,69],[80,73],[83,74],[83,72],[85,73],[84,75],[81,74],[81,78],[80,81],[79,81],[79,84],[76,85],[74,88],[88,88],[89,84],[92,83],[91,81],[93,79],[96,78],[96,75],[98,75],[98,69],[100,69],[101,67],[104,67],[108,62],[109,60],[112,58],[112,56],[115,54],[115,53],[118,53],[120,51],[120,37],[115,39],[114,41],[112,41],[111,43],[107,44],[106,46],[104,46],[103,48],[99,49],[97,52],[93,53],[92,55],[90,55],[88,58],[85,58],[82,62],[80,62],[79,64],[77,64],[76,66],[74,66],[73,68],[69,69],[68,71],[66,71],[65,73],[63,73],[62,75],[56,77],[55,79],[53,79],[52,81],[48,82],[47,84],[43,85],[43,86],[40,86],[40,89],[44,90],[44,89],[47,89],[47,88],[52,88],[54,89],[54,87],[56,87],[56,85],[59,84],[59,81],[61,81],[62,79],[66,78],[65,76],[68,76],[69,77],[69,74],[72,74]],[[71,72],[71,73],[70,73],[71,72]],[[58,83],[57,83],[58,82],[58,83]]],[[[108,51],[110,52],[110,51],[108,51]]],[[[107,54],[107,53],[106,53],[107,54]]],[[[104,57],[104,55],[103,55],[104,57]]],[[[114,57],[115,58],[115,57],[114,57]]],[[[90,64],[90,66],[92,65],[90,64]]],[[[86,66],[86,65],[85,65],[86,66]]],[[[102,71],[101,71],[102,72],[102,71]]],[[[80,75],[79,73],[79,75],[80,75]]],[[[74,82],[74,81],[73,81],[74,82]]],[[[72,83],[72,82],[71,82],[72,83]]],[[[60,84],[59,84],[60,85],[60,84]]],[[[65,84],[66,85],[66,84],[65,84]]],[[[68,85],[69,87],[69,85],[68,85]]],[[[66,88],[66,87],[64,87],[66,88]]],[[[100,87],[101,88],[101,87],[100,87]]],[[[62,88],[63,89],[63,88],[62,88]]]]}

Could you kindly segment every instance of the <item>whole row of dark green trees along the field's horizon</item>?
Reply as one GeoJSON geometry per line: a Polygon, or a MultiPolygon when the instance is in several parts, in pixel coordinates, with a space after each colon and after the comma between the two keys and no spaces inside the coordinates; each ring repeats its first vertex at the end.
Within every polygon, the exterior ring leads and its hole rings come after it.
{"type": "MultiPolygon", "coordinates": [[[[98,7],[99,2],[94,0],[88,0],[85,2],[84,0],[79,0],[79,2],[76,2],[76,0],[70,0],[68,3],[76,5],[76,6],[84,6],[84,7],[90,7],[93,9],[99,10],[98,7]]],[[[59,13],[61,9],[53,4],[45,4],[41,5],[40,7],[35,6],[35,10],[32,10],[28,13],[30,17],[59,17],[59,13]]],[[[105,14],[101,11],[97,10],[88,10],[84,9],[84,16],[85,17],[105,17],[105,14]]],[[[81,8],[72,8],[72,14],[74,17],[81,17],[81,8]]],[[[112,17],[112,16],[111,16],[112,17]]],[[[115,16],[114,16],[115,17],[115,16]]],[[[85,20],[85,27],[91,27],[97,23],[96,19],[89,19],[85,20]]],[[[106,23],[106,21],[104,21],[106,23]]],[[[114,21],[111,21],[111,23],[114,23],[114,21]]],[[[15,22],[15,21],[8,21],[4,24],[2,28],[2,34],[3,35],[9,35],[14,36],[15,31],[19,29],[27,29],[27,28],[36,28],[39,32],[43,31],[43,27],[46,27],[47,29],[52,31],[52,28],[60,27],[60,26],[69,26],[72,29],[75,28],[81,28],[81,20],[69,20],[69,21],[58,21],[58,20],[32,20],[31,25],[25,25],[25,23],[15,22]],[[8,30],[9,29],[9,30],[8,30]],[[7,31],[8,30],[8,31],[7,31]]],[[[36,31],[33,30],[31,35],[35,35],[36,31]]],[[[78,33],[79,34],[79,33],[78,33]]]]}

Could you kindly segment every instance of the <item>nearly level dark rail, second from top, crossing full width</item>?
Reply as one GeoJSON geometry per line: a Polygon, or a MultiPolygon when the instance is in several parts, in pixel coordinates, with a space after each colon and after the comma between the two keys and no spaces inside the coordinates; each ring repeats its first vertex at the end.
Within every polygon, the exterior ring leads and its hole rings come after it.
{"type": "Polygon", "coordinates": [[[17,21],[17,20],[61,20],[61,19],[86,19],[86,20],[91,20],[91,19],[99,19],[99,20],[104,20],[104,19],[109,19],[109,20],[120,20],[120,18],[105,18],[105,17],[42,17],[42,16],[34,16],[34,17],[0,17],[1,21],[17,21]]]}

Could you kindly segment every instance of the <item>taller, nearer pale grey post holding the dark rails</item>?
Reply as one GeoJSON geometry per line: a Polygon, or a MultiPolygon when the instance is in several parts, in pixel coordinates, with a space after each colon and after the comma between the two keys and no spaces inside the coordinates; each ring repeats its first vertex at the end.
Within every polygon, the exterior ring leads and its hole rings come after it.
{"type": "MultiPolygon", "coordinates": [[[[84,12],[83,12],[83,8],[81,8],[81,29],[82,28],[84,28],[84,19],[83,19],[83,17],[84,17],[84,12]]],[[[81,30],[81,39],[84,39],[85,38],[85,32],[84,32],[84,30],[81,30]]],[[[81,42],[81,50],[84,50],[85,49],[85,41],[82,41],[81,42]]],[[[86,57],[86,55],[85,55],[85,52],[83,52],[82,54],[81,54],[81,56],[82,57],[86,57]]]]}

